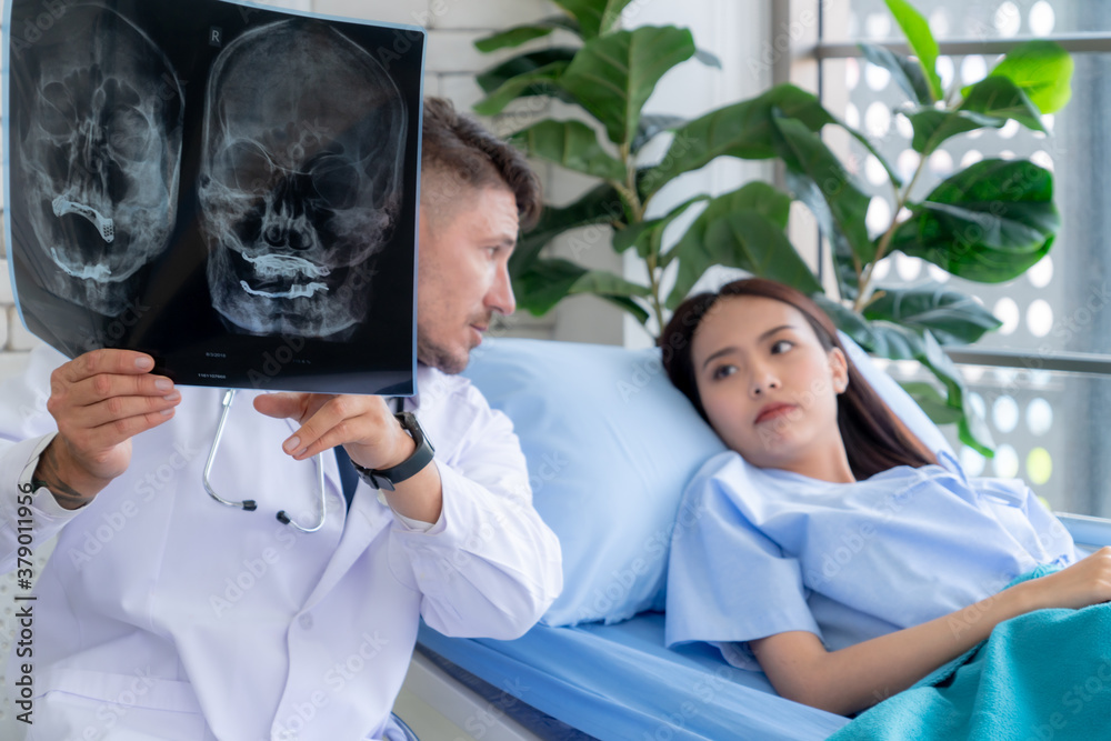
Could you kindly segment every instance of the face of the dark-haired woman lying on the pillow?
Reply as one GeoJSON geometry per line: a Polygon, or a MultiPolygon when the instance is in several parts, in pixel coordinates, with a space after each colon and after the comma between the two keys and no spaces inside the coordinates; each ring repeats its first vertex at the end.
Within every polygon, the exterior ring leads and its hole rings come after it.
{"type": "Polygon", "coordinates": [[[720,299],[694,333],[691,358],[710,423],[750,463],[807,472],[815,457],[843,455],[844,356],[827,351],[794,307],[720,299]]]}

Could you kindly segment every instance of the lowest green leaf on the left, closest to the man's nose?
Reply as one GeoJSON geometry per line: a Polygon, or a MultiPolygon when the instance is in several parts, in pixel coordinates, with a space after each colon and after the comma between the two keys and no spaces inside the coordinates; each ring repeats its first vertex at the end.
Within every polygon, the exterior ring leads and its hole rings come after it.
{"type": "Polygon", "coordinates": [[[601,298],[647,297],[651,291],[604,270],[588,270],[569,260],[537,260],[513,282],[521,308],[539,317],[569,296],[601,298]]]}

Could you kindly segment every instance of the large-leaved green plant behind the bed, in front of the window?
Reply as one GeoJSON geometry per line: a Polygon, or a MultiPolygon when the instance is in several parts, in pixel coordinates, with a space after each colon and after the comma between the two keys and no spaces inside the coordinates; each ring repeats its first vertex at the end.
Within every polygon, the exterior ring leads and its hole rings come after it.
{"type": "Polygon", "coordinates": [[[479,40],[489,52],[518,47],[556,29],[578,37],[573,46],[526,51],[479,76],[487,97],[476,111],[494,116],[513,100],[547,96],[578,106],[583,120],[542,120],[511,139],[530,157],[595,178],[598,184],[573,203],[544,209],[540,223],[521,237],[511,261],[522,308],[542,314],[568,296],[592,293],[648,326],[662,327],[668,313],[714,264],[789,283],[817,298],[838,326],[869,352],[913,359],[944,390],[908,384],[938,422],[957,422],[961,440],[991,454],[985,424],[967,402],[964,384],[942,351],[977,341],[1000,322],[972,297],[939,284],[877,286],[875,263],[894,251],[919,257],[953,276],[1002,282],[1021,276],[1050,250],[1060,226],[1053,177],[1021,159],[988,159],[954,172],[929,192],[915,188],[929,156],[948,139],[1009,120],[1044,131],[1041,116],[1069,100],[1072,60],[1050,41],[1022,43],[988,77],[943,90],[937,72],[938,44],[922,16],[905,0],[887,0],[912,57],[861,44],[864,58],[887,69],[907,93],[897,112],[913,127],[921,154],[913,177],[903,180],[862,133],[827,111],[811,93],[780,84],[745,101],[694,120],[642,112],[655,84],[671,69],[699,59],[689,30],[672,26],[620,28],[629,0],[554,0],[563,13],[479,40]],[[870,198],[822,139],[825,127],[845,129],[883,164],[894,193],[890,226],[870,236],[864,222],[870,198]],[[599,137],[604,132],[605,139],[599,137]],[[658,161],[642,161],[645,144],[671,137],[658,161]],[[753,181],[711,198],[691,198],[649,219],[653,199],[679,176],[719,157],[778,159],[785,190],[753,181]],[[822,286],[787,236],[788,212],[800,201],[818,220],[831,246],[837,296],[822,286]],[[664,229],[697,204],[703,210],[674,244],[664,229]],[[643,260],[647,284],[571,260],[546,257],[559,234],[592,224],[613,229],[612,247],[643,260]],[[674,286],[664,296],[663,273],[674,286]]]}

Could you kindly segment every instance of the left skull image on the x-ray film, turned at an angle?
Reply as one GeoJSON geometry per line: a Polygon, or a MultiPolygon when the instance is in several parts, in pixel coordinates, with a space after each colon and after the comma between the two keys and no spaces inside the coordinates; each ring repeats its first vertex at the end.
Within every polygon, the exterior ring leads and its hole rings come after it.
{"type": "Polygon", "coordinates": [[[28,220],[43,288],[113,317],[168,247],[177,213],[183,98],[166,54],[100,4],[73,4],[24,52],[21,121],[28,220]]]}

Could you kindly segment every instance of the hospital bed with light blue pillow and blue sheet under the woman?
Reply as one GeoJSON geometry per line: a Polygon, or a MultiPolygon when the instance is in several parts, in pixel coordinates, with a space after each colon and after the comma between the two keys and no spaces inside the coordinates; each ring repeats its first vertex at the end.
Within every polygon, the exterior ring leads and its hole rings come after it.
{"type": "MultiPolygon", "coordinates": [[[[948,450],[898,384],[849,350],[903,421],[948,450]]],[[[780,698],[712,647],[664,648],[661,543],[668,519],[689,514],[678,510],[683,482],[720,442],[671,388],[657,351],[501,339],[476,351],[468,375],[513,419],[536,505],[563,545],[565,588],[514,641],[421,628],[402,697],[458,729],[417,728],[423,741],[787,741],[824,739],[848,722],[780,698]]],[[[1078,543],[1111,545],[1111,521],[1060,518],[1078,543]]]]}

